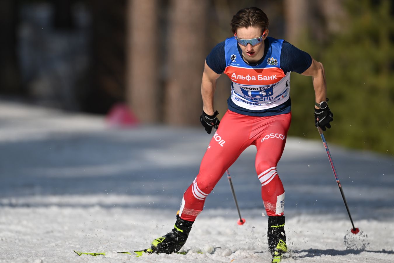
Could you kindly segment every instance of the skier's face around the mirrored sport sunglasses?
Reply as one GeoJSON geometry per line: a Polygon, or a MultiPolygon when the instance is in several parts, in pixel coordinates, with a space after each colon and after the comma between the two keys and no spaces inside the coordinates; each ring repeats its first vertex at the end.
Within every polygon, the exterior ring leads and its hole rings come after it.
{"type": "Polygon", "coordinates": [[[250,63],[258,62],[264,55],[264,39],[266,39],[268,35],[268,29],[262,32],[262,29],[259,27],[250,26],[248,28],[242,27],[238,28],[236,31],[236,37],[239,39],[252,39],[261,37],[264,34],[264,37],[260,43],[255,46],[251,44],[247,44],[247,46],[238,45],[242,49],[243,58],[250,63]]]}

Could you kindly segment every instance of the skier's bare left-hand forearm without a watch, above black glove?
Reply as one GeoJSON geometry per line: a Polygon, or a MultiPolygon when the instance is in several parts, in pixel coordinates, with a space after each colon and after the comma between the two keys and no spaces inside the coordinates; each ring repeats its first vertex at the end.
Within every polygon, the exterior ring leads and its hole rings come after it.
{"type": "Polygon", "coordinates": [[[214,115],[214,93],[216,80],[220,74],[213,71],[205,62],[203,80],[201,81],[201,97],[203,98],[203,110],[208,115],[214,115]]]}

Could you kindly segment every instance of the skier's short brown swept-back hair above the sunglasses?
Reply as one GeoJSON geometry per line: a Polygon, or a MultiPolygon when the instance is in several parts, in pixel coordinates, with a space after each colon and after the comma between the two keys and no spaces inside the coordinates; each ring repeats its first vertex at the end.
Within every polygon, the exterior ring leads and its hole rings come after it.
{"type": "Polygon", "coordinates": [[[231,20],[231,32],[236,33],[238,28],[248,28],[249,26],[258,26],[262,31],[266,30],[269,21],[266,13],[257,7],[247,7],[238,11],[231,20]]]}

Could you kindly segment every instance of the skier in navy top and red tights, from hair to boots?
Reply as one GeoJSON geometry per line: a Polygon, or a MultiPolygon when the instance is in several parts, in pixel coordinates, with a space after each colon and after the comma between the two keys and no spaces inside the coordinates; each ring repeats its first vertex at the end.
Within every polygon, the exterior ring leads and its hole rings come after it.
{"type": "Polygon", "coordinates": [[[241,9],[232,17],[230,37],[207,56],[201,94],[200,121],[214,133],[197,177],[184,192],[174,228],[155,239],[149,253],[178,252],[185,244],[206,196],[225,171],[250,145],[257,148],[255,167],[268,215],[268,250],[272,262],[287,251],[284,231],[284,188],[277,173],[290,126],[290,72],[312,76],[315,91],[314,120],[323,131],[333,120],[326,99],[323,65],[283,39],[268,37],[268,17],[257,7],[241,9]],[[225,73],[231,80],[228,110],[219,121],[214,111],[216,79],[225,73]],[[220,125],[219,125],[220,123],[220,125]]]}

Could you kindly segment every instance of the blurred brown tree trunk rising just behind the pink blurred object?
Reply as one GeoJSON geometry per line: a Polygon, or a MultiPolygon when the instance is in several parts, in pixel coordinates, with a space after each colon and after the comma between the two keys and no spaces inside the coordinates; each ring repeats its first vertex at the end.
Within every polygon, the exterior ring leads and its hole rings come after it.
{"type": "Polygon", "coordinates": [[[158,0],[128,0],[126,97],[143,122],[157,122],[160,114],[158,58],[158,0]]]}

